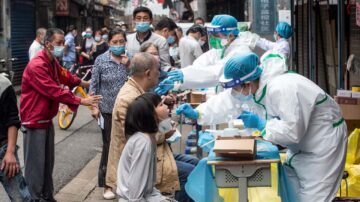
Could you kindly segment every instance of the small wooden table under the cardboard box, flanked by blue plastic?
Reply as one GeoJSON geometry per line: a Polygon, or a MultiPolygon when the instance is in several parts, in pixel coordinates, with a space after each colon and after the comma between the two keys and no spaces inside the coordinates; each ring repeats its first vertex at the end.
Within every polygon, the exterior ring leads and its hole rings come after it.
{"type": "Polygon", "coordinates": [[[271,163],[279,159],[246,161],[208,161],[215,166],[215,180],[220,188],[239,188],[239,202],[248,201],[248,187],[271,186],[271,163]]]}

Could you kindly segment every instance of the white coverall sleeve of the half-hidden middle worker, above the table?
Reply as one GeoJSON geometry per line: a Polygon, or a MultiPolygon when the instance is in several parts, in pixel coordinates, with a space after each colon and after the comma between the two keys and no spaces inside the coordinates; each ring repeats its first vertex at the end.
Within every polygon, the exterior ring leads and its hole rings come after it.
{"type": "Polygon", "coordinates": [[[199,112],[200,125],[226,123],[229,115],[236,119],[241,113],[241,103],[233,98],[231,89],[227,89],[200,104],[196,110],[199,112]]]}

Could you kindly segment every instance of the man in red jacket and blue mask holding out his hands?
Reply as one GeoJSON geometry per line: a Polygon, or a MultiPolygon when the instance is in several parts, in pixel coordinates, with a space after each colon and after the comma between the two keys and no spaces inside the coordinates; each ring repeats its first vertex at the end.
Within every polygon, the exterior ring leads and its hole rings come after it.
{"type": "Polygon", "coordinates": [[[23,73],[20,97],[20,117],[25,127],[24,160],[25,181],[32,200],[55,201],[53,198],[52,172],[54,167],[54,127],[59,103],[67,104],[72,110],[81,105],[96,105],[101,96],[76,97],[69,89],[77,85],[89,87],[62,68],[56,58],[64,51],[64,32],[57,28],[48,29],[44,50],[34,57],[23,73]]]}

